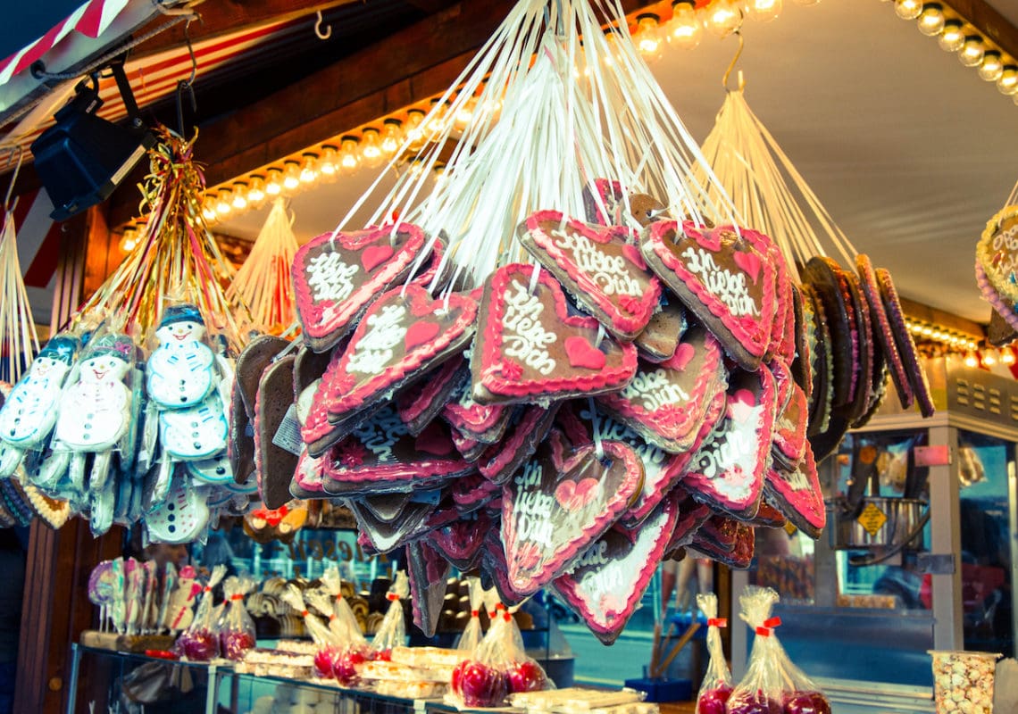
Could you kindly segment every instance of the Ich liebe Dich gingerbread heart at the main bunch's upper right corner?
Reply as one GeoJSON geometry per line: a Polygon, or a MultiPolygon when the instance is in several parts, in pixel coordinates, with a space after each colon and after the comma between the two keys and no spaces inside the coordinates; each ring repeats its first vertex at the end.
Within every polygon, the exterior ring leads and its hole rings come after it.
{"type": "Polygon", "coordinates": [[[777,310],[771,241],[755,231],[658,221],[640,238],[647,265],[745,369],[771,344],[777,310]]]}

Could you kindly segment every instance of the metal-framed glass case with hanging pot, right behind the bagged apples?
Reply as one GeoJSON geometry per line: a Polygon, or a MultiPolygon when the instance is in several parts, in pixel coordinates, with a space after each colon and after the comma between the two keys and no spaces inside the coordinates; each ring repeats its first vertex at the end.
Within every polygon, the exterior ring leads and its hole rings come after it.
{"type": "MultiPolygon", "coordinates": [[[[822,538],[759,530],[733,578],[778,590],[782,644],[846,714],[934,711],[928,650],[1015,652],[1018,383],[937,366],[932,419],[892,405],[819,465],[822,538]]],[[[733,629],[737,676],[750,645],[733,629]]]]}

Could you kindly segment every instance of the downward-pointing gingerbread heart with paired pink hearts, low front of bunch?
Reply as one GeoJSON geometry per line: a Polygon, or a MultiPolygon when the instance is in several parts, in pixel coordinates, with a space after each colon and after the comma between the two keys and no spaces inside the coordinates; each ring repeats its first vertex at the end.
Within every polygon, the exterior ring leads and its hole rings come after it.
{"type": "Polygon", "coordinates": [[[600,460],[593,444],[567,450],[553,430],[505,486],[502,542],[514,592],[528,595],[563,575],[639,489],[643,467],[633,450],[610,440],[602,448],[600,460]]]}

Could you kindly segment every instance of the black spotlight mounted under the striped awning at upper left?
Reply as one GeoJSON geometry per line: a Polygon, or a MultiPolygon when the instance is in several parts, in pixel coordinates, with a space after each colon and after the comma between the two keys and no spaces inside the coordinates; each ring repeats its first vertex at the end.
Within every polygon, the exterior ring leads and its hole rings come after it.
{"type": "Polygon", "coordinates": [[[55,115],[56,125],[32,142],[36,173],[53,201],[54,221],[64,221],[106,200],[156,138],[137,116],[123,60],[111,65],[127,109],[127,125],[96,116],[103,105],[98,74],[82,80],[74,98],[55,115]]]}

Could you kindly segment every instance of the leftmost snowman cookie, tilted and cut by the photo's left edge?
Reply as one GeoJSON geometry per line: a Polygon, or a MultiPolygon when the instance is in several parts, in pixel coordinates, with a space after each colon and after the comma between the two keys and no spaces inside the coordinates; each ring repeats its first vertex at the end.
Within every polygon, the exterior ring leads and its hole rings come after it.
{"type": "Polygon", "coordinates": [[[0,476],[14,473],[24,452],[39,450],[53,430],[64,378],[77,352],[77,340],[56,337],[39,353],[29,373],[14,385],[0,409],[0,476]]]}

